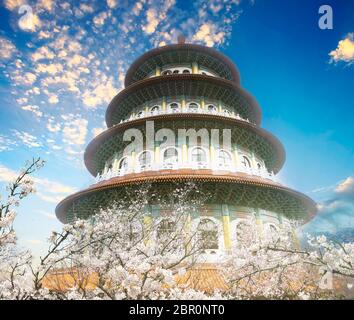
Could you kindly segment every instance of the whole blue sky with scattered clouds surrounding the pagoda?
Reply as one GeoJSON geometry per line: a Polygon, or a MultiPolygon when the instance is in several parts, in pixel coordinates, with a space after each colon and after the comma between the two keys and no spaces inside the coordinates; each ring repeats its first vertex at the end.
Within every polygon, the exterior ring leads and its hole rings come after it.
{"type": "Polygon", "coordinates": [[[27,159],[47,161],[19,208],[21,245],[43,250],[58,201],[91,182],[83,151],[130,63],[180,32],[238,66],[285,146],[281,181],[319,203],[305,230],[354,227],[354,2],[4,0],[0,15],[1,187],[27,159]],[[332,30],[318,27],[322,4],[332,30]]]}

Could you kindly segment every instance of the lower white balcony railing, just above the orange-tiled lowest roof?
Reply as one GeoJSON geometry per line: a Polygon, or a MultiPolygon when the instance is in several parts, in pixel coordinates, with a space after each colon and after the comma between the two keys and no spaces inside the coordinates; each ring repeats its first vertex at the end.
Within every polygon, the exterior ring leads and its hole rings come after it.
{"type": "Polygon", "coordinates": [[[109,169],[103,174],[98,174],[94,179],[94,183],[99,183],[101,181],[109,180],[114,177],[122,177],[131,173],[141,173],[145,171],[160,171],[160,170],[181,170],[181,169],[209,169],[213,171],[228,171],[230,173],[246,173],[251,176],[261,177],[263,179],[269,179],[276,181],[276,177],[273,173],[268,172],[266,169],[255,169],[246,168],[243,166],[235,167],[232,164],[227,163],[215,163],[211,164],[209,162],[191,162],[191,163],[178,163],[178,162],[163,162],[163,163],[151,163],[151,164],[140,164],[135,167],[127,166],[121,169],[109,169]]]}

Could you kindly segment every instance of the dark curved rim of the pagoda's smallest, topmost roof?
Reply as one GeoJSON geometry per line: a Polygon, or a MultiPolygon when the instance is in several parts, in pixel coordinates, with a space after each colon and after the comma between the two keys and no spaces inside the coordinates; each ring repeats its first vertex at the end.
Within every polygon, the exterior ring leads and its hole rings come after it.
{"type": "MultiPolygon", "coordinates": [[[[237,70],[235,64],[227,56],[225,56],[224,54],[218,52],[213,48],[209,48],[197,44],[183,43],[183,44],[172,44],[172,45],[155,48],[141,55],[129,67],[125,76],[125,81],[124,81],[125,86],[128,87],[133,82],[137,81],[134,80],[134,76],[136,75],[139,68],[141,68],[141,66],[146,61],[150,59],[154,59],[159,55],[168,54],[171,52],[178,52],[178,51],[190,51],[190,52],[194,51],[199,54],[204,54],[206,56],[210,56],[216,60],[219,60],[222,64],[224,64],[229,69],[232,77],[230,80],[236,82],[237,84],[240,83],[240,73],[237,70]]],[[[138,81],[139,80],[141,79],[138,79],[138,81]]]]}

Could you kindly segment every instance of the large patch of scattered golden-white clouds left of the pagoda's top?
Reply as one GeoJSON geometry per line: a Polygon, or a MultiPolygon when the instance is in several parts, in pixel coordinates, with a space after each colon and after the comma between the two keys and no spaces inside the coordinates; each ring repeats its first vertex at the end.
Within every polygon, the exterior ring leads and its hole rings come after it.
{"type": "MultiPolygon", "coordinates": [[[[18,12],[26,3],[5,0],[4,7],[18,12]]],[[[10,15],[9,24],[25,31],[27,42],[0,37],[0,68],[11,83],[19,117],[26,117],[21,130],[7,132],[19,146],[41,148],[76,165],[92,137],[88,133],[102,128],[107,104],[123,89],[134,59],[176,42],[179,33],[188,42],[224,45],[241,12],[238,1],[222,0],[185,2],[184,8],[175,0],[28,4],[35,15],[32,29],[19,27],[18,14],[10,15]]],[[[3,140],[10,138],[7,134],[2,133],[3,140]]],[[[7,143],[0,151],[9,148],[7,143]]]]}

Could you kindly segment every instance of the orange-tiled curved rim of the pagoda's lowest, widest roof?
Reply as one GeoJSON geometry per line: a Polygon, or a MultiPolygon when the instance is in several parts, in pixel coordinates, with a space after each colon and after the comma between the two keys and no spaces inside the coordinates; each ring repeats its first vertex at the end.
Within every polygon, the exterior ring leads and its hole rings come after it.
{"type": "Polygon", "coordinates": [[[129,185],[140,185],[142,183],[161,184],[186,181],[230,183],[236,185],[255,186],[261,188],[265,192],[271,189],[273,191],[275,190],[283,192],[287,196],[293,197],[295,200],[299,201],[301,206],[303,206],[305,209],[305,212],[303,213],[303,215],[305,215],[305,221],[312,219],[317,212],[316,203],[311,198],[298,191],[292,190],[270,180],[260,179],[246,174],[217,174],[210,170],[179,170],[178,172],[172,170],[164,170],[158,172],[148,171],[144,173],[133,173],[124,177],[116,177],[100,182],[98,184],[94,184],[89,188],[79,191],[62,200],[57,205],[55,213],[57,218],[62,223],[66,223],[66,213],[72,204],[75,201],[85,196],[93,195],[96,192],[108,191],[110,189],[129,185]]]}

